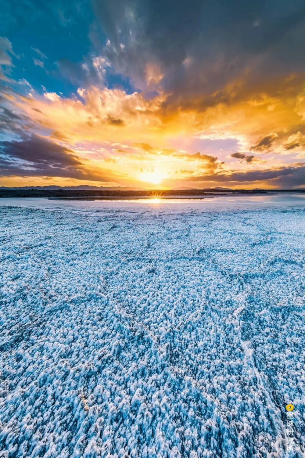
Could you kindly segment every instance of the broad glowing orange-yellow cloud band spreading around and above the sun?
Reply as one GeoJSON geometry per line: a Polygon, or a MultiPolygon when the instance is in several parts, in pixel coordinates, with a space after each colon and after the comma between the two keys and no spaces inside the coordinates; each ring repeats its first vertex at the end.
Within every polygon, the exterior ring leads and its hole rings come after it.
{"type": "Polygon", "coordinates": [[[117,184],[148,186],[174,180],[181,185],[181,180],[194,182],[202,173],[213,173],[222,182],[223,173],[244,173],[250,163],[263,172],[289,164],[290,154],[301,158],[304,82],[293,76],[277,84],[277,91],[272,82],[265,83],[263,91],[236,81],[221,94],[198,96],[187,106],[175,107],[168,104],[170,95],[162,92],[147,98],[144,93],[95,86],[79,88],[71,98],[47,92],[40,96],[31,90],[31,97],[15,94],[10,103],[44,135],[82,160],[87,158],[92,170],[104,176],[106,169],[117,184]],[[240,150],[226,158],[217,149],[212,154],[178,151],[171,142],[181,135],[194,140],[235,139],[240,150]],[[266,159],[257,160],[257,153],[266,159]]]}

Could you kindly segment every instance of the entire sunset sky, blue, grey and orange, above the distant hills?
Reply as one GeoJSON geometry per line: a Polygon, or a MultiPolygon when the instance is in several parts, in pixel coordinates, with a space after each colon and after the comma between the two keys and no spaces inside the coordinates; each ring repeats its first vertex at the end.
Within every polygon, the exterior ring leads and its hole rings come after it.
{"type": "Polygon", "coordinates": [[[0,186],[305,187],[304,0],[2,0],[0,186]]]}

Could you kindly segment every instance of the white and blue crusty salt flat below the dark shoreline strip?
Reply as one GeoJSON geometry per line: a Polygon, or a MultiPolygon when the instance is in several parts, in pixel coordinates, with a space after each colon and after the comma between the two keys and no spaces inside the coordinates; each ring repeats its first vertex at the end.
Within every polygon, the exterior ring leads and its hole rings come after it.
{"type": "Polygon", "coordinates": [[[304,200],[1,202],[1,458],[304,456],[304,200]]]}

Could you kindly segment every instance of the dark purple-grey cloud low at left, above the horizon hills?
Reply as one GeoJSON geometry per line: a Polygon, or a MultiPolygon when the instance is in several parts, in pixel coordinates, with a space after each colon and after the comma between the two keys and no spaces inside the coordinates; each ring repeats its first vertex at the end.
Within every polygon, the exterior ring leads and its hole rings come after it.
{"type": "Polygon", "coordinates": [[[87,171],[70,149],[35,135],[22,141],[0,142],[0,176],[13,175],[109,180],[87,171]]]}

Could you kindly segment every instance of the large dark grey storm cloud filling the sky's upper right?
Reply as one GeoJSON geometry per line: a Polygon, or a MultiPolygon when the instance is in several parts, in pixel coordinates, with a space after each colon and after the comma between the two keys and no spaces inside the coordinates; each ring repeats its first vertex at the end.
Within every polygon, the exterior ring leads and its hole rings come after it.
{"type": "Polygon", "coordinates": [[[207,97],[239,76],[253,83],[279,71],[305,70],[304,1],[275,6],[272,0],[93,0],[93,5],[111,42],[109,60],[138,85],[146,64],[158,64],[163,88],[172,93],[168,103],[191,104],[191,96],[207,97]]]}

